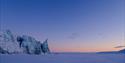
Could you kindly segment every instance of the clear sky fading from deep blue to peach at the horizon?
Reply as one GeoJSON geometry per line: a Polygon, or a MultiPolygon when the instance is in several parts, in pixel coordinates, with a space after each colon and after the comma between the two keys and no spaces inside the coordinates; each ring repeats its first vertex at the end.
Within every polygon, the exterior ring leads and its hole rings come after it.
{"type": "Polygon", "coordinates": [[[2,29],[53,52],[114,51],[125,46],[125,0],[1,0],[2,29]]]}

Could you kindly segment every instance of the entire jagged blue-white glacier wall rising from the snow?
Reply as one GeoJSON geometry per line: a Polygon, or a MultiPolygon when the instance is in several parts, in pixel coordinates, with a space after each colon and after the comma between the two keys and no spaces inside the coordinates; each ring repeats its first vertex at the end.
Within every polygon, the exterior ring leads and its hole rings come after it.
{"type": "Polygon", "coordinates": [[[17,36],[10,30],[0,31],[0,53],[42,54],[50,53],[48,40],[43,43],[27,35],[17,36]]]}

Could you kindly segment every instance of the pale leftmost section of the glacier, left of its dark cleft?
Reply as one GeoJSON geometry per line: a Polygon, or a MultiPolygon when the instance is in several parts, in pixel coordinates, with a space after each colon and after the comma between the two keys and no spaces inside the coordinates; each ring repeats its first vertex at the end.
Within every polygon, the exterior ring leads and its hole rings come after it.
{"type": "Polygon", "coordinates": [[[8,53],[21,53],[22,49],[19,48],[18,42],[15,41],[16,37],[10,32],[10,30],[6,30],[0,34],[0,48],[8,51],[8,53]]]}

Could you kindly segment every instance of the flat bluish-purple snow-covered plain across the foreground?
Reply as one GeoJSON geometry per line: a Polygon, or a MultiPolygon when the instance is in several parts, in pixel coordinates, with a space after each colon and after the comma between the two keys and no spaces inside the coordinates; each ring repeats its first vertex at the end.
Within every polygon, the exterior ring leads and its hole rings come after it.
{"type": "Polygon", "coordinates": [[[125,54],[63,53],[0,55],[0,63],[125,63],[125,54]]]}

